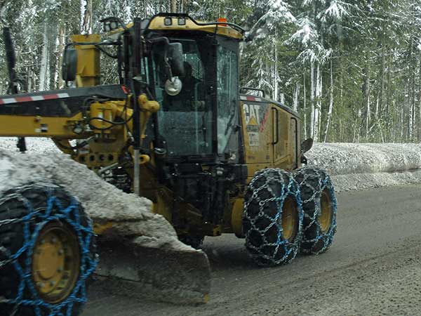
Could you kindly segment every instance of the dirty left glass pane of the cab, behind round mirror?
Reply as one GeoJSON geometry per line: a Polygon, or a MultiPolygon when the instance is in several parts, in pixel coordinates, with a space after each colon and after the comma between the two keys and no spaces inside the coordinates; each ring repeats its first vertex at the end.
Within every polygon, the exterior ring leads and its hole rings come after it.
{"type": "Polygon", "coordinates": [[[192,39],[171,41],[182,44],[185,74],[179,77],[180,93],[169,96],[164,89],[166,74],[161,71],[159,58],[155,58],[156,100],[162,105],[158,113],[159,133],[166,140],[168,154],[210,154],[212,111],[204,93],[206,71],[199,45],[192,39]]]}

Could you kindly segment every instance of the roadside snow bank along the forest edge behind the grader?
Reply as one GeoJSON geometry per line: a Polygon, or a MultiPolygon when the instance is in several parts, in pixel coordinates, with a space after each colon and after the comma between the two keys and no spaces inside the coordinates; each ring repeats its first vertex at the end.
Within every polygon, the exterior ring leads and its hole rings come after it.
{"type": "MultiPolygon", "coordinates": [[[[60,152],[48,138],[27,138],[27,148],[60,152]]],[[[0,139],[0,149],[18,151],[16,139],[0,139]]],[[[328,171],[337,192],[421,183],[421,144],[315,143],[305,156],[328,171]]]]}

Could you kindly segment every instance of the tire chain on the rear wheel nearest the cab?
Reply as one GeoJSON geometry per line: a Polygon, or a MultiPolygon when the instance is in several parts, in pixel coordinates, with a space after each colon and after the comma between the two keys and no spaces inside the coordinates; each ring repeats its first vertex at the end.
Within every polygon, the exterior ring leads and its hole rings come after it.
{"type": "Polygon", "coordinates": [[[245,232],[246,237],[246,248],[251,249],[250,256],[259,264],[259,265],[279,265],[279,264],[286,264],[293,261],[295,256],[299,250],[299,244],[301,239],[301,232],[302,232],[302,202],[300,196],[300,190],[298,189],[298,183],[293,178],[291,173],[283,171],[281,169],[263,169],[255,173],[253,179],[250,181],[247,187],[246,195],[248,192],[252,192],[251,197],[249,199],[245,199],[244,203],[244,211],[243,211],[243,223],[246,221],[250,223],[250,229],[248,232],[245,232]],[[258,185],[258,182],[265,178],[265,183],[263,185],[258,185]],[[272,184],[279,184],[281,187],[281,196],[277,196],[276,192],[272,189],[272,184]],[[260,192],[266,191],[269,192],[271,197],[267,199],[260,198],[260,192]],[[279,211],[282,209],[283,202],[288,196],[295,197],[295,201],[297,202],[297,207],[299,211],[299,223],[298,223],[298,235],[294,239],[294,244],[297,246],[293,246],[287,239],[283,239],[282,233],[282,223],[279,220],[279,217],[282,215],[282,212],[279,211]],[[250,204],[253,201],[258,201],[259,204],[259,212],[255,214],[253,217],[249,215],[249,208],[250,204]],[[265,205],[270,202],[276,202],[278,211],[276,211],[276,215],[272,218],[271,216],[265,213],[265,205]],[[267,218],[270,220],[270,224],[263,230],[256,226],[256,221],[260,220],[261,218],[267,218]],[[254,246],[250,244],[248,240],[250,239],[250,234],[253,231],[259,232],[262,238],[265,239],[265,233],[271,229],[273,226],[276,226],[278,231],[276,242],[267,242],[261,246],[254,246]],[[272,256],[268,256],[262,252],[262,246],[275,246],[274,252],[272,256]],[[279,247],[283,247],[283,256],[282,258],[276,259],[276,254],[279,251],[279,247]],[[260,261],[260,258],[263,258],[265,263],[260,261]]]}

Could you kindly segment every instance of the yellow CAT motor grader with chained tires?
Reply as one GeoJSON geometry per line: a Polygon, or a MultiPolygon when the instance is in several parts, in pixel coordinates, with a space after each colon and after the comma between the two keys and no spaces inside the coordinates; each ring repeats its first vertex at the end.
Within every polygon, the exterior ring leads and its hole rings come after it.
{"type": "MultiPolygon", "coordinates": [[[[69,88],[13,94],[11,76],[0,136],[18,137],[20,150],[25,138],[51,138],[107,182],[150,199],[194,247],[234,233],[262,266],[326,251],[336,229],[333,185],[325,171],[302,167],[312,140],[302,142],[298,113],[239,88],[245,31],[180,13],[102,22],[105,37],[74,35],[65,48],[69,88]],[[101,53],[116,59],[114,85],[100,84],[101,53]]],[[[86,301],[76,294],[98,261],[94,232],[114,224],[91,223],[60,185],[11,187],[0,199],[1,315],[79,315],[86,301]]]]}

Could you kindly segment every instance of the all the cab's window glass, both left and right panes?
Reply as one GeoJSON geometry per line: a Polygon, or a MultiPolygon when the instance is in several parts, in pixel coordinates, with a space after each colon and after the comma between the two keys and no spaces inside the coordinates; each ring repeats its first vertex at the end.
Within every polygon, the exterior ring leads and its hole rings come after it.
{"type": "Polygon", "coordinates": [[[165,91],[168,75],[162,65],[162,47],[152,53],[154,90],[161,104],[159,134],[169,155],[222,154],[236,126],[238,60],[236,51],[215,46],[208,37],[171,38],[182,44],[185,74],[176,96],[165,91]],[[215,123],[214,123],[215,122],[215,123]],[[213,148],[213,138],[218,145],[213,148]]]}

